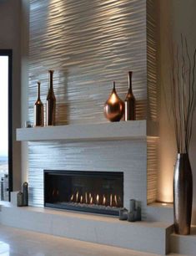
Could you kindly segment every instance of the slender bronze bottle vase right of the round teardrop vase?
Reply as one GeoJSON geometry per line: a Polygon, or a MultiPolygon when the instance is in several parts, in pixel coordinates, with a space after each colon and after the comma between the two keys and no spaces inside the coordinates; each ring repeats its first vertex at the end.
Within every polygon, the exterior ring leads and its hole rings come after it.
{"type": "Polygon", "coordinates": [[[132,90],[132,71],[128,72],[128,93],[124,100],[124,120],[135,120],[135,98],[132,90]]]}

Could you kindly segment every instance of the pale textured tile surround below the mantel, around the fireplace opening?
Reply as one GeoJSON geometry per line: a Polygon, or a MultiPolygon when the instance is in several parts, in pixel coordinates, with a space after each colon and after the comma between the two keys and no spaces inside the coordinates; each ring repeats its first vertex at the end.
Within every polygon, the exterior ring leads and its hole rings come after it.
{"type": "MultiPolygon", "coordinates": [[[[124,173],[124,206],[135,198],[146,207],[146,141],[29,142],[30,204],[43,206],[43,170],[124,173]]],[[[143,208],[143,209],[144,209],[143,208]]]]}

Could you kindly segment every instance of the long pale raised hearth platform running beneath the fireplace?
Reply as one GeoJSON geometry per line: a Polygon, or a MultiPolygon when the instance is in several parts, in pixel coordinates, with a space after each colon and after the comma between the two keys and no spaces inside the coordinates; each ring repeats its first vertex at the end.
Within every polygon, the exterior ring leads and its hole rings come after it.
{"type": "Polygon", "coordinates": [[[0,223],[15,228],[33,230],[66,238],[132,248],[148,253],[168,252],[168,223],[128,223],[111,218],[78,212],[58,211],[38,207],[1,206],[0,223]]]}

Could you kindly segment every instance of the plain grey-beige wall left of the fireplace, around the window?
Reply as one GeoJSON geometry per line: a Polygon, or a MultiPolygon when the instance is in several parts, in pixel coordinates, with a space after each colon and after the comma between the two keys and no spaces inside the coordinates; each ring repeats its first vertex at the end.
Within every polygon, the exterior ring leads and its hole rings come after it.
{"type": "Polygon", "coordinates": [[[20,126],[20,8],[19,0],[0,1],[0,49],[13,49],[13,189],[20,188],[20,143],[15,131],[20,126]]]}

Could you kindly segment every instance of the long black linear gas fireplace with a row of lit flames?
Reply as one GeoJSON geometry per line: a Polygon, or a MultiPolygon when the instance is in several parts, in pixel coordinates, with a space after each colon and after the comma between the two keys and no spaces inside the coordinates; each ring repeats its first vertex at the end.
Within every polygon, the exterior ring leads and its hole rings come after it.
{"type": "Polygon", "coordinates": [[[123,207],[123,172],[44,170],[44,206],[118,215],[123,207]]]}

